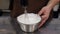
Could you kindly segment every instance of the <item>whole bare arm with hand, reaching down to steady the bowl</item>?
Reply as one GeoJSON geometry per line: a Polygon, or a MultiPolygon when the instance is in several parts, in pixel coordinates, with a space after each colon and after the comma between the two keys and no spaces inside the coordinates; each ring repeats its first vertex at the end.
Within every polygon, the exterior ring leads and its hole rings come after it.
{"type": "Polygon", "coordinates": [[[39,15],[42,15],[42,21],[39,25],[39,27],[43,26],[43,24],[46,22],[46,20],[49,18],[51,9],[59,2],[59,0],[50,0],[47,5],[45,7],[43,7],[40,11],[39,11],[39,15]]]}

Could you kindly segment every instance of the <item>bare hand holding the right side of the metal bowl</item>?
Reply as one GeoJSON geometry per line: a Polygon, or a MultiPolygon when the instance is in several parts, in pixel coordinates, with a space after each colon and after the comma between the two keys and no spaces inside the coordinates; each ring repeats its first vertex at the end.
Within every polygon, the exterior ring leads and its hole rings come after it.
{"type": "Polygon", "coordinates": [[[42,21],[39,27],[41,27],[46,22],[46,20],[49,18],[50,11],[51,9],[48,6],[45,6],[38,12],[38,14],[42,17],[42,21]]]}

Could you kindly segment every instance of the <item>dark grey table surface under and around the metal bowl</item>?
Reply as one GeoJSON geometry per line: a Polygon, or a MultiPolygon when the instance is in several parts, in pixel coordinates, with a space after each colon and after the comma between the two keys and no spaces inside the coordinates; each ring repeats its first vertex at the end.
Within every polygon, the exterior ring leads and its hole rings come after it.
{"type": "Polygon", "coordinates": [[[60,34],[60,21],[53,19],[46,27],[32,33],[23,32],[15,18],[0,17],[0,34],[60,34]]]}

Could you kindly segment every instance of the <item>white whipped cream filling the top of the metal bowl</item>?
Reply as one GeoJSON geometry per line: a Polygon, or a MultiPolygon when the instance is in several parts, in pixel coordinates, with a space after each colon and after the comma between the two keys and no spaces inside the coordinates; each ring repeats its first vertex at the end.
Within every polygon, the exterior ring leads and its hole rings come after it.
{"type": "Polygon", "coordinates": [[[26,16],[25,14],[18,16],[17,21],[23,24],[36,24],[41,21],[41,17],[34,13],[27,13],[26,16]]]}

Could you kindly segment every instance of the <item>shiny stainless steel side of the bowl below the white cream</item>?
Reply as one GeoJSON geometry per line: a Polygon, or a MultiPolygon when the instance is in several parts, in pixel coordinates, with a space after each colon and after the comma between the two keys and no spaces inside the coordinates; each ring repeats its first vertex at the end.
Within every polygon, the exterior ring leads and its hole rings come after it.
{"type": "Polygon", "coordinates": [[[25,32],[34,32],[36,29],[38,29],[38,23],[30,25],[20,23],[20,27],[25,32]]]}

